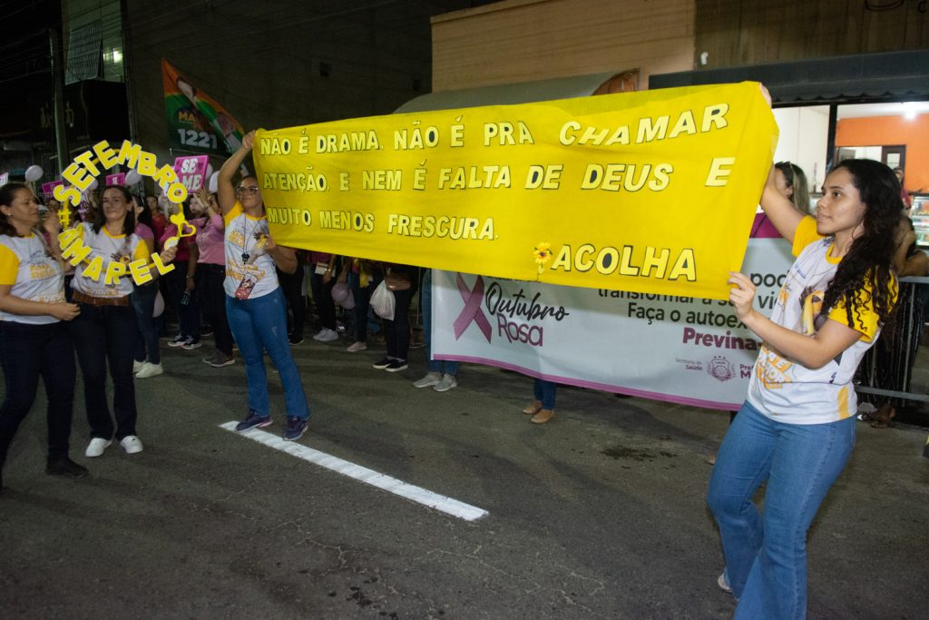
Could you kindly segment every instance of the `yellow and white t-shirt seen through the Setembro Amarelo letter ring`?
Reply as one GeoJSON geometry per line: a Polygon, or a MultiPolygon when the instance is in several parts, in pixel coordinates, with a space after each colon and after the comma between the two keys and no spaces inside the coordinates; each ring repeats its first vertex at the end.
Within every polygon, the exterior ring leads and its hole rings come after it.
{"type": "Polygon", "coordinates": [[[129,273],[129,263],[134,260],[149,259],[149,247],[137,234],[111,235],[106,227],[94,232],[93,224],[84,222],[78,225],[78,238],[83,239],[85,245],[90,247],[90,254],[81,261],[74,271],[74,280],[71,287],[80,293],[91,297],[125,297],[132,293],[132,275],[129,273]],[[85,270],[96,257],[103,260],[99,277],[87,277],[85,270]],[[126,266],[126,273],[120,276],[119,282],[106,284],[107,267],[114,260],[126,266]]]}

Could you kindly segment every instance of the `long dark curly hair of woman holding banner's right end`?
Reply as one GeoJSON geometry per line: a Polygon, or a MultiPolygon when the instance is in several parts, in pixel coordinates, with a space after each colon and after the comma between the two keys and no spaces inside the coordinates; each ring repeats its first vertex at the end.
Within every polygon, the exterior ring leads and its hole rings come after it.
{"type": "MultiPolygon", "coordinates": [[[[848,325],[863,327],[863,310],[870,303],[881,323],[894,311],[896,277],[892,271],[896,226],[903,201],[900,182],[886,165],[870,159],[846,159],[832,171],[844,168],[865,204],[864,231],[852,242],[835,277],[826,289],[822,313],[842,303],[848,325]]],[[[860,331],[860,330],[859,330],[860,331]]]]}

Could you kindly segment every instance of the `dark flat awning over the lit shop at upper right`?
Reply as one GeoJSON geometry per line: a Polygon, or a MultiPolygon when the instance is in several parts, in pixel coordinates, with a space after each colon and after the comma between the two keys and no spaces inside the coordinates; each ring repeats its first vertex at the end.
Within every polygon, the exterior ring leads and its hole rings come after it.
{"type": "Polygon", "coordinates": [[[649,88],[753,80],[775,104],[899,101],[929,98],[929,50],[805,59],[652,75],[649,88]]]}

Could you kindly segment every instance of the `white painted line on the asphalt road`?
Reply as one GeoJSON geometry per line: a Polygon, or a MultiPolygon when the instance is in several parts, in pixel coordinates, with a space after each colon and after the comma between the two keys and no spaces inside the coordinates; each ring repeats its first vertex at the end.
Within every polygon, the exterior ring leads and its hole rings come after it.
{"type": "Polygon", "coordinates": [[[411,499],[429,508],[436,508],[446,514],[450,514],[452,517],[464,519],[464,521],[477,521],[481,517],[490,514],[487,510],[482,508],[465,504],[464,502],[460,502],[457,499],[445,495],[438,495],[438,493],[433,493],[428,489],[408,484],[396,478],[391,478],[373,469],[363,468],[360,465],[355,465],[338,456],[327,455],[324,452],[314,450],[313,448],[307,448],[307,446],[297,442],[285,442],[278,435],[271,434],[264,430],[250,429],[242,433],[236,432],[236,424],[238,424],[238,422],[227,422],[225,424],[220,424],[219,428],[230,430],[254,442],[264,443],[270,448],[280,450],[281,452],[296,456],[297,458],[302,458],[322,468],[330,469],[335,473],[340,473],[349,478],[354,478],[357,481],[371,484],[388,493],[406,497],[407,499],[411,499]]]}

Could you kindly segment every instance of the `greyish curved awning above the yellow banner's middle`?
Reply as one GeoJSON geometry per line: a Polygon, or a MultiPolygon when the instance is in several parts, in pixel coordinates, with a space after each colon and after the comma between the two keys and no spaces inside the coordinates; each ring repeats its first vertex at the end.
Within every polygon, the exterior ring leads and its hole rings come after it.
{"type": "Polygon", "coordinates": [[[482,105],[510,105],[552,99],[587,97],[593,95],[598,86],[615,74],[591,73],[573,77],[559,77],[541,82],[445,90],[411,99],[401,105],[396,112],[429,112],[432,110],[474,108],[482,105]]]}

